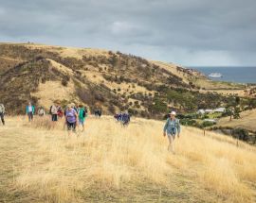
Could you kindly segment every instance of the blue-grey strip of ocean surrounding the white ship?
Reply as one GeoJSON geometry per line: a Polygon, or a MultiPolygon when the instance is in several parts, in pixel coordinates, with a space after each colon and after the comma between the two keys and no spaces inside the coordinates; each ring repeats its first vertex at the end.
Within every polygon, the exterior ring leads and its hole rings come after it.
{"type": "Polygon", "coordinates": [[[209,76],[211,73],[220,73],[222,77],[210,77],[212,80],[256,83],[256,67],[190,67],[209,76]]]}

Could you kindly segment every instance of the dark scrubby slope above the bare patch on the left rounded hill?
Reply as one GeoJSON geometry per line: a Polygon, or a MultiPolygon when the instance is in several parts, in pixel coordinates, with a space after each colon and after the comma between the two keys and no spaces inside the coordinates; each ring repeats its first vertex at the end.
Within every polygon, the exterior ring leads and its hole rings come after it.
{"type": "Polygon", "coordinates": [[[1,75],[1,102],[8,110],[23,113],[28,100],[37,103],[38,98],[32,96],[32,93],[38,91],[40,84],[48,80],[62,81],[65,77],[67,76],[51,66],[46,59],[20,63],[1,75]]]}

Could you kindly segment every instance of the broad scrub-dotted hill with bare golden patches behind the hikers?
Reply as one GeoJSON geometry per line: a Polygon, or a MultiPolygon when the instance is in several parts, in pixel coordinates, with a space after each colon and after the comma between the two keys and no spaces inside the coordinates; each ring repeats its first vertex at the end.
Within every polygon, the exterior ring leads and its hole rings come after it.
{"type": "Polygon", "coordinates": [[[218,108],[234,100],[230,92],[245,88],[119,51],[33,43],[0,43],[0,76],[1,99],[9,113],[24,113],[28,100],[46,109],[57,100],[63,106],[83,103],[91,110],[101,106],[106,114],[129,110],[162,118],[170,108],[218,108]]]}

